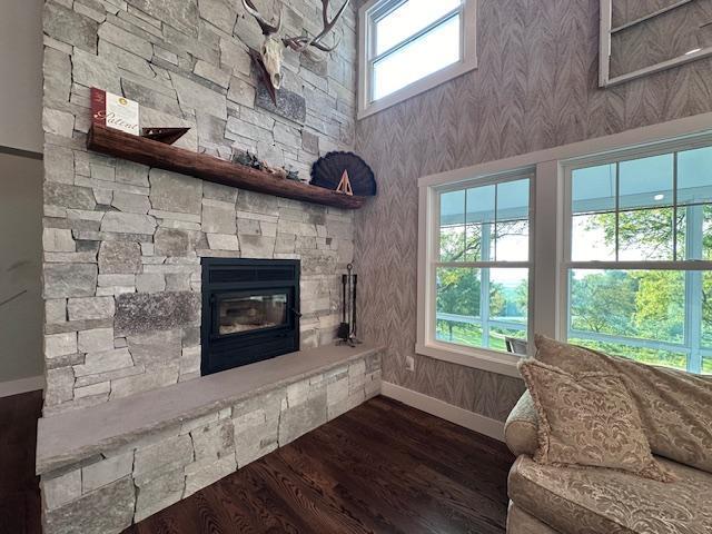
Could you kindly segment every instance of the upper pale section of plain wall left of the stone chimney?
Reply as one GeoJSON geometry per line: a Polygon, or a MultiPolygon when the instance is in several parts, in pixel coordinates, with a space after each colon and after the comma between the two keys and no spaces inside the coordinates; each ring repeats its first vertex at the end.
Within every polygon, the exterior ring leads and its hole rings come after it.
{"type": "Polygon", "coordinates": [[[0,147],[42,151],[42,1],[0,0],[0,147]]]}

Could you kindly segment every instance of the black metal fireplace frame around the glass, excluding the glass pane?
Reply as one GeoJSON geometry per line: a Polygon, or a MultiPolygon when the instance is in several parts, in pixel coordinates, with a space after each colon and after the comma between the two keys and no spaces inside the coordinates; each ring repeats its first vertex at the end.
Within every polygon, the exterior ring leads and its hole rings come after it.
{"type": "Polygon", "coordinates": [[[201,375],[299,350],[299,277],[296,259],[202,258],[201,375]],[[285,325],[220,335],[218,304],[228,295],[287,293],[285,325]]]}

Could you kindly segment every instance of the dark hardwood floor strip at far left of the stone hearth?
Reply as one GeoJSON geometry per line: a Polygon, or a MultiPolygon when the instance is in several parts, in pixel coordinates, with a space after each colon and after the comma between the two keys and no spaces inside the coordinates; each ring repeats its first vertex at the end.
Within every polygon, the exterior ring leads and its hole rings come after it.
{"type": "Polygon", "coordinates": [[[0,533],[39,534],[40,485],[34,476],[42,392],[0,398],[0,533]]]}

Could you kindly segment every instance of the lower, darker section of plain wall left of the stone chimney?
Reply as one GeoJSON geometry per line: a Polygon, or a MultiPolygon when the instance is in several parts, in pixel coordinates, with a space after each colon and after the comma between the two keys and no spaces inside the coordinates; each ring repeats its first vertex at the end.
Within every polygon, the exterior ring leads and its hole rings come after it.
{"type": "Polygon", "coordinates": [[[42,374],[42,174],[0,152],[0,383],[42,374]]]}

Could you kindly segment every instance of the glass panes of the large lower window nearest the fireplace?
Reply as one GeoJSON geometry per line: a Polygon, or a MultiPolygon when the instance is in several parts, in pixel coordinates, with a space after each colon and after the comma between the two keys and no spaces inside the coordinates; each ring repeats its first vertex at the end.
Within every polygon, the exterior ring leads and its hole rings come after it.
{"type": "Polygon", "coordinates": [[[439,194],[438,342],[506,350],[526,339],[530,188],[516,176],[439,194]]]}

